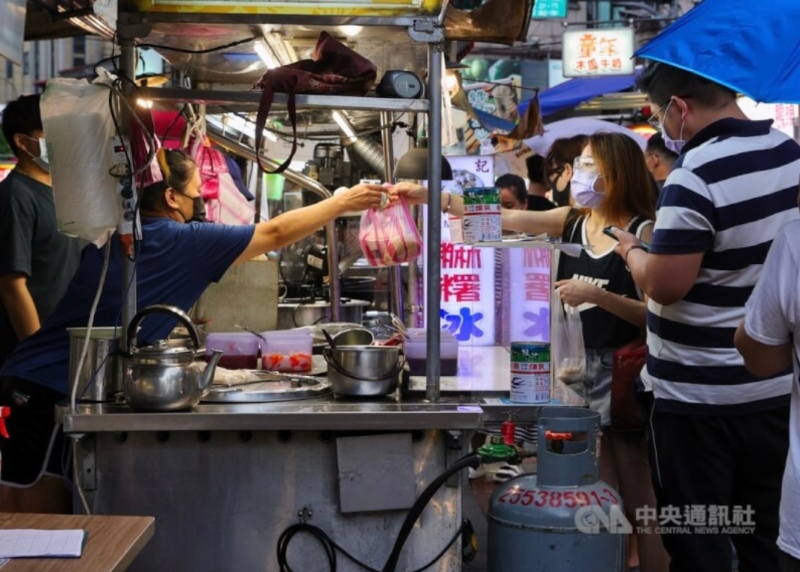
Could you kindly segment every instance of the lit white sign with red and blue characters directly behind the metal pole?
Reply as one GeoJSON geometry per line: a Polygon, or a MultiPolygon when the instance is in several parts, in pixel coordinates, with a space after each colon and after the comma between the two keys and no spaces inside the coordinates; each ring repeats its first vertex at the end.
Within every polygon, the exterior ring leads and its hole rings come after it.
{"type": "MultiPolygon", "coordinates": [[[[446,191],[461,194],[464,188],[494,184],[491,157],[448,157],[448,161],[454,181],[447,182],[446,191]]],[[[427,220],[427,213],[424,216],[427,220]]],[[[442,215],[441,327],[462,345],[495,345],[494,249],[454,243],[448,219],[442,215]]],[[[427,299],[427,281],[425,288],[427,299]]]]}

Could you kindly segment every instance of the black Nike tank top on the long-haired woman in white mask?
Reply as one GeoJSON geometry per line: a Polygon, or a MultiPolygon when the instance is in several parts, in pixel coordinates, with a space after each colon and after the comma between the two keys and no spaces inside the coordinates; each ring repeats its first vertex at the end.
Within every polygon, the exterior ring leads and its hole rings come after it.
{"type": "MultiPolygon", "coordinates": [[[[627,230],[639,236],[640,229],[648,222],[637,217],[627,230]]],[[[585,216],[572,220],[568,218],[562,239],[564,242],[586,244],[585,229],[585,216]]],[[[613,249],[599,256],[590,250],[582,250],[577,258],[562,253],[558,263],[558,279],[571,278],[586,280],[613,294],[641,299],[625,262],[613,249]]],[[[599,306],[583,304],[577,309],[581,313],[583,342],[587,348],[618,348],[641,335],[640,328],[599,306]]]]}

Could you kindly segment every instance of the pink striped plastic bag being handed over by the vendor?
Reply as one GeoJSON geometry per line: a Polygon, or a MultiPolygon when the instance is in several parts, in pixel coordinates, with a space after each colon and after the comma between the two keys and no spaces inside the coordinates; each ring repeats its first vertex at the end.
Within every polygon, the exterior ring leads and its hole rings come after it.
{"type": "Polygon", "coordinates": [[[370,266],[402,264],[422,253],[422,238],[403,199],[361,215],[358,240],[370,266]]]}

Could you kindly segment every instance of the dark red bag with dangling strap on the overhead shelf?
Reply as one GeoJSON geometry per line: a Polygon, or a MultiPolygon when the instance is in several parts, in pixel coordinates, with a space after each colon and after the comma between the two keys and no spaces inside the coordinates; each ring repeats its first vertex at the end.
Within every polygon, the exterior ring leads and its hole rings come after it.
{"type": "Polygon", "coordinates": [[[314,49],[314,57],[293,64],[268,70],[255,84],[263,90],[256,116],[256,157],[266,173],[283,173],[297,151],[297,109],[295,95],[366,95],[375,83],[377,68],[363,56],[351,50],[327,32],[322,32],[314,49]],[[275,93],[289,96],[287,107],[292,124],[292,151],[289,157],[274,171],[261,164],[261,140],[267,125],[275,93]]]}

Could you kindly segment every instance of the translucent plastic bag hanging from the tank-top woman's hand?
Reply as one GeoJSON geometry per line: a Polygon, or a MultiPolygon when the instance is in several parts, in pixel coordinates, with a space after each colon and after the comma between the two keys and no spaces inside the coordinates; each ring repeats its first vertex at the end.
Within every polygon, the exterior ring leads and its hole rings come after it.
{"type": "Polygon", "coordinates": [[[583,381],[586,379],[586,350],[581,314],[577,308],[567,306],[565,309],[554,290],[550,315],[554,320],[551,355],[556,379],[566,384],[583,381]]]}

